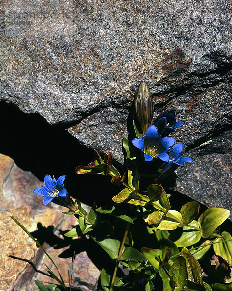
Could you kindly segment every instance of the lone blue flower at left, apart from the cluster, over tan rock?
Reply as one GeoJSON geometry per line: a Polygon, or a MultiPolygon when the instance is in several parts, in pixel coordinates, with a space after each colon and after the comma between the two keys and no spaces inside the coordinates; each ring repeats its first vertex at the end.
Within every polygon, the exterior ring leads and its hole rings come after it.
{"type": "Polygon", "coordinates": [[[50,175],[46,175],[44,177],[45,186],[42,185],[41,187],[36,188],[34,193],[36,195],[43,196],[43,204],[46,206],[54,198],[67,196],[68,192],[64,188],[64,180],[65,175],[60,176],[58,180],[56,180],[54,176],[52,178],[50,175]]]}

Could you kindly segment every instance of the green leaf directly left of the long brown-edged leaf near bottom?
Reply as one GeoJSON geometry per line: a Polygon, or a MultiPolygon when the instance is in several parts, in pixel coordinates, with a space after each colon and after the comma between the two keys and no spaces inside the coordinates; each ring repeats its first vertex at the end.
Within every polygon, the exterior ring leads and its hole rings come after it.
{"type": "Polygon", "coordinates": [[[173,276],[173,280],[178,287],[175,288],[175,291],[181,291],[188,279],[187,269],[186,269],[186,261],[182,256],[178,256],[174,260],[174,264],[169,269],[169,275],[173,276]]]}

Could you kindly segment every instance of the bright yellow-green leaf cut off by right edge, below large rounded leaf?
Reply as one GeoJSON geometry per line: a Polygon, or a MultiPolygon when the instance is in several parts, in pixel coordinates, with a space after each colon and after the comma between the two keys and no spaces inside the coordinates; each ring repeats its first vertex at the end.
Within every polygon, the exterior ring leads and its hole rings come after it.
{"type": "Polygon", "coordinates": [[[216,255],[221,256],[223,259],[228,260],[229,265],[232,265],[232,237],[229,232],[223,231],[221,238],[218,238],[215,242],[221,242],[213,244],[213,248],[216,255]],[[231,240],[231,241],[228,241],[231,240]],[[227,242],[225,242],[227,241],[227,242]]]}

